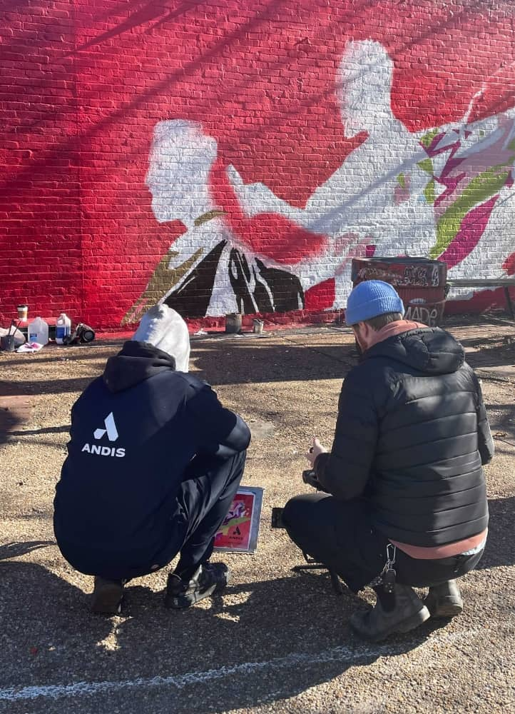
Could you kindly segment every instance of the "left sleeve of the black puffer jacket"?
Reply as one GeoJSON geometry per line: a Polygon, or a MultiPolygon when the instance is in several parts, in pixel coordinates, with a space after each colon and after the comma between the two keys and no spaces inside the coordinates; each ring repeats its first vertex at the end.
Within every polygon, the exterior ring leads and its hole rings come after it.
{"type": "Polygon", "coordinates": [[[374,460],[378,428],[373,390],[363,383],[357,368],[342,386],[332,449],[315,461],[315,473],[325,491],[342,501],[362,495],[374,460]]]}

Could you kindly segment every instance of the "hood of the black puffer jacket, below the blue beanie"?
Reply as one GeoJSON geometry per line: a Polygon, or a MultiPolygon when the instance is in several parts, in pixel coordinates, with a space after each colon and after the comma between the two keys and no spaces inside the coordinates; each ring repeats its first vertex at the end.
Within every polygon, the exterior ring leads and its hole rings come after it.
{"type": "Polygon", "coordinates": [[[386,357],[427,375],[451,374],[465,361],[463,347],[439,327],[409,330],[369,348],[362,360],[386,357]]]}

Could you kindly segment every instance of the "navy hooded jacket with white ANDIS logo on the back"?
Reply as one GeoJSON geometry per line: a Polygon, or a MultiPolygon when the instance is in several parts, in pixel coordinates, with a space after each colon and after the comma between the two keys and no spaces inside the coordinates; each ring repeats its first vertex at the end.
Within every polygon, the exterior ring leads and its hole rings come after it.
{"type": "Polygon", "coordinates": [[[248,426],[207,383],[135,341],[73,405],[70,436],[54,531],[66,559],[90,574],[159,560],[175,539],[176,496],[191,459],[229,458],[250,442],[248,426]]]}

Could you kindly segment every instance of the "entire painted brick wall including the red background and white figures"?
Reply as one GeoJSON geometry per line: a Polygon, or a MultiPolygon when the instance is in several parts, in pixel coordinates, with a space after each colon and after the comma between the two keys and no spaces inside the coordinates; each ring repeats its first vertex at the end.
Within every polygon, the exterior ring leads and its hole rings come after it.
{"type": "MultiPolygon", "coordinates": [[[[345,306],[515,272],[511,0],[0,0],[0,313],[345,306]]],[[[503,303],[499,291],[459,308],[503,303]]]]}

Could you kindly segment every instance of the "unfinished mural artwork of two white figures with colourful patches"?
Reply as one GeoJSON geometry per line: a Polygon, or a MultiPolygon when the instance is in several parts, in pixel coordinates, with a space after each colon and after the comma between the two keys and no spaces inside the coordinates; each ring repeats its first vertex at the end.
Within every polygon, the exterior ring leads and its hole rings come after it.
{"type": "Polygon", "coordinates": [[[412,133],[392,112],[393,82],[382,44],[347,43],[335,95],[342,133],[363,138],[302,208],[245,183],[200,121],[158,122],[152,211],[185,231],[122,323],[155,302],[187,317],[343,308],[354,257],[439,258],[449,278],[513,274],[515,110],[469,122],[484,86],[461,121],[412,133]]]}

